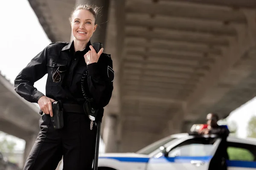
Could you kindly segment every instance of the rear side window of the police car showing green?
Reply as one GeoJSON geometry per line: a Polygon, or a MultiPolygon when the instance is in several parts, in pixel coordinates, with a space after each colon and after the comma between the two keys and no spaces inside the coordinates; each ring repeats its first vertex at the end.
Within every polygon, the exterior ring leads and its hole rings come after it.
{"type": "Polygon", "coordinates": [[[254,161],[253,154],[247,149],[238,148],[238,147],[228,147],[227,154],[228,154],[230,160],[254,161]]]}

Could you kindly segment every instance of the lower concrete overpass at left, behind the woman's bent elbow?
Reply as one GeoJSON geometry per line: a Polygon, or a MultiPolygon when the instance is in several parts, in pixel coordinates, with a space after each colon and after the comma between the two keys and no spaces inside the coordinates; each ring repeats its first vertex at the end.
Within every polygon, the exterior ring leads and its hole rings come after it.
{"type": "Polygon", "coordinates": [[[39,108],[21,98],[0,74],[0,130],[26,141],[24,159],[28,156],[40,130],[39,108]]]}

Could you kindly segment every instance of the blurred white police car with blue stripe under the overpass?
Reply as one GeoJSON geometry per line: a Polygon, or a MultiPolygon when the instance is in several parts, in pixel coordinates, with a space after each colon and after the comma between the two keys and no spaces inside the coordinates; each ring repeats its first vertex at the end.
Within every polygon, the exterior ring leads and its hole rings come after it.
{"type": "MultiPolygon", "coordinates": [[[[192,131],[205,125],[193,125],[192,131]]],[[[179,133],[161,139],[136,153],[99,155],[99,170],[208,170],[221,138],[179,133]]],[[[256,140],[227,138],[228,170],[256,170],[256,140]]]]}

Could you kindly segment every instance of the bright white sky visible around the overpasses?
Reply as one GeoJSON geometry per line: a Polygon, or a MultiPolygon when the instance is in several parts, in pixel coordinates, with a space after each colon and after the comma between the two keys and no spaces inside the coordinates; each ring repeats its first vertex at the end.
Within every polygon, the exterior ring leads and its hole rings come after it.
{"type": "MultiPolygon", "coordinates": [[[[0,1],[0,20],[0,72],[13,83],[17,74],[36,54],[49,45],[50,40],[28,0],[0,1]]],[[[36,82],[35,87],[45,94],[45,84],[46,76],[36,82]]],[[[237,108],[227,118],[229,122],[237,123],[237,135],[241,138],[247,136],[250,117],[256,116],[255,106],[256,98],[237,108]]],[[[24,148],[25,142],[22,139],[13,136],[9,136],[9,139],[17,142],[17,150],[24,148]]]]}

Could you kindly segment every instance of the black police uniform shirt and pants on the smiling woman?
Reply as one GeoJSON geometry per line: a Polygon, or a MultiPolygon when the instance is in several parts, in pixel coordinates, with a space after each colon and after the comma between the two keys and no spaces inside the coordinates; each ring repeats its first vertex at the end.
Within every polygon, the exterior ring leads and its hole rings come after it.
{"type": "MultiPolygon", "coordinates": [[[[15,91],[29,102],[38,102],[43,96],[33,85],[48,74],[46,96],[64,104],[82,106],[85,102],[81,91],[81,79],[87,75],[87,93],[99,107],[96,120],[101,121],[103,107],[108,105],[113,91],[113,65],[109,54],[102,53],[97,63],[86,65],[84,54],[90,50],[88,42],[83,51],[74,51],[73,42],[56,42],[48,45],[18,74],[15,91]],[[61,72],[61,80],[53,82],[58,67],[67,66],[61,72]]],[[[41,128],[26,160],[24,170],[55,170],[63,156],[64,170],[90,170],[92,167],[96,125],[90,130],[90,119],[84,113],[64,112],[64,127],[55,130],[50,116],[39,120],[41,128]]]]}

